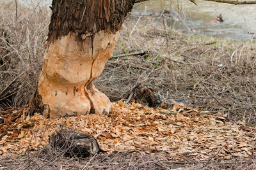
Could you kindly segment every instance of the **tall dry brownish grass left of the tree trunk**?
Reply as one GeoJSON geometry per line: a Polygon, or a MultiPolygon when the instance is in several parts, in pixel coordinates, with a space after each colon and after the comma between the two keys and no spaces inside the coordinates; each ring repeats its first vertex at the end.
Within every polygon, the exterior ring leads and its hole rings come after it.
{"type": "Polygon", "coordinates": [[[50,13],[0,3],[0,111],[27,104],[36,90],[50,13]]]}

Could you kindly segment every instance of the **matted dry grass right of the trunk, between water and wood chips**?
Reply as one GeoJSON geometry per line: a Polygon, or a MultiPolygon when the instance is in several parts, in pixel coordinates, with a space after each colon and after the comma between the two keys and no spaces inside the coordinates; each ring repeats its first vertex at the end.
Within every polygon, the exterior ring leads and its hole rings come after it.
{"type": "MultiPolygon", "coordinates": [[[[182,99],[205,110],[253,107],[256,96],[256,53],[252,41],[229,42],[187,35],[156,25],[161,18],[138,16],[123,24],[116,53],[143,49],[145,55],[113,58],[96,85],[112,101],[127,97],[138,83],[166,99],[182,99]]],[[[226,111],[230,121],[255,124],[255,108],[226,111]]]]}

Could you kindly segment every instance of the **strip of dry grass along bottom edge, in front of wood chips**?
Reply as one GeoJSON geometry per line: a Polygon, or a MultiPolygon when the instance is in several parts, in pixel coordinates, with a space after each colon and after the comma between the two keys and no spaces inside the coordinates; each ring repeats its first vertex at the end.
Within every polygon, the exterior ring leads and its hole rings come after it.
{"type": "Polygon", "coordinates": [[[20,157],[1,157],[2,169],[256,169],[255,160],[229,162],[175,162],[168,153],[99,153],[94,157],[65,157],[45,148],[44,152],[20,157]]]}

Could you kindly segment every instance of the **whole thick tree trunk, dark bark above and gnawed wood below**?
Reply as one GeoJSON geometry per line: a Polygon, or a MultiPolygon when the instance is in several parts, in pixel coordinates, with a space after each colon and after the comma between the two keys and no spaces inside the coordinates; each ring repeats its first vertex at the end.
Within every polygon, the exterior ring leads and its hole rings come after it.
{"type": "Polygon", "coordinates": [[[53,0],[52,16],[32,104],[50,117],[108,113],[108,97],[93,85],[111,57],[134,0],[53,0]]]}

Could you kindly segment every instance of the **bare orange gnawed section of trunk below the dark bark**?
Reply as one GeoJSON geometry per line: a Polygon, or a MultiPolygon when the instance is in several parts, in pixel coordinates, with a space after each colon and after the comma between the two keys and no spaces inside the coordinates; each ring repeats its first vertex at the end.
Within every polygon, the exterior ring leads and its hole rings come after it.
{"type": "Polygon", "coordinates": [[[51,118],[106,114],[108,97],[93,85],[115,48],[116,34],[97,32],[77,39],[74,32],[50,43],[38,83],[38,97],[44,115],[51,118]]]}

